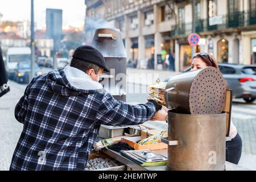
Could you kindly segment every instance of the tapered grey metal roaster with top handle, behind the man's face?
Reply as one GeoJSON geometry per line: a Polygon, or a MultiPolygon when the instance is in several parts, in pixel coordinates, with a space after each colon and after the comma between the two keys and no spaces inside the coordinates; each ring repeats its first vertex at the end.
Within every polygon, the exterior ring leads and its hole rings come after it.
{"type": "Polygon", "coordinates": [[[112,96],[126,101],[126,65],[127,56],[121,33],[118,29],[97,29],[92,46],[102,53],[110,73],[102,75],[101,84],[112,96]]]}

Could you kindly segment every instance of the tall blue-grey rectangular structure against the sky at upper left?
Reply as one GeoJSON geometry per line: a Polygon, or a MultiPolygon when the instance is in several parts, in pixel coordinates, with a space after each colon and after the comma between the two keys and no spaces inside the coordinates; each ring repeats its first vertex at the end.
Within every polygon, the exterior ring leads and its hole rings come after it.
{"type": "Polygon", "coordinates": [[[62,39],[62,10],[46,9],[46,38],[53,39],[55,51],[60,48],[60,40],[62,39]]]}

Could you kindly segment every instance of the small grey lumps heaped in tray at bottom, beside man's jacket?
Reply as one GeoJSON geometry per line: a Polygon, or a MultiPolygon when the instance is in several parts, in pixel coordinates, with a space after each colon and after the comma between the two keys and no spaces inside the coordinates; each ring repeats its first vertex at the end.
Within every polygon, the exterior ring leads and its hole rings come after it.
{"type": "Polygon", "coordinates": [[[85,171],[92,171],[97,169],[104,169],[110,167],[117,167],[119,166],[115,160],[111,159],[103,159],[103,158],[95,158],[90,159],[85,166],[85,171]]]}

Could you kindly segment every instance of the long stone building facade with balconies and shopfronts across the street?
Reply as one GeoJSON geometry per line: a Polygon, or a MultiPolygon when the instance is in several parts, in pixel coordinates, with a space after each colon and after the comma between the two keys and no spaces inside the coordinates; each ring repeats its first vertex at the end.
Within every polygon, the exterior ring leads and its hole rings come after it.
{"type": "MultiPolygon", "coordinates": [[[[86,19],[101,17],[121,30],[127,60],[154,58],[154,68],[170,52],[176,71],[191,65],[192,1],[85,1],[86,19]],[[160,61],[158,61],[160,59],[160,61]]],[[[211,53],[219,63],[256,64],[256,0],[199,0],[195,30],[201,36],[197,52],[211,53]]],[[[86,26],[86,24],[85,24],[86,26]]]]}

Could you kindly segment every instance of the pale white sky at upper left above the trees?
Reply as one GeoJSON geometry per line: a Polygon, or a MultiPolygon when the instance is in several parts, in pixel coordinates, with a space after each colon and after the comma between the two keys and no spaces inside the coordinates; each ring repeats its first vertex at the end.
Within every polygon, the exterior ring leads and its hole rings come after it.
{"type": "MultiPolygon", "coordinates": [[[[46,27],[46,9],[63,10],[63,26],[80,27],[84,24],[84,0],[34,0],[36,30],[46,27]]],[[[2,20],[30,20],[31,0],[0,0],[2,20]]]]}

